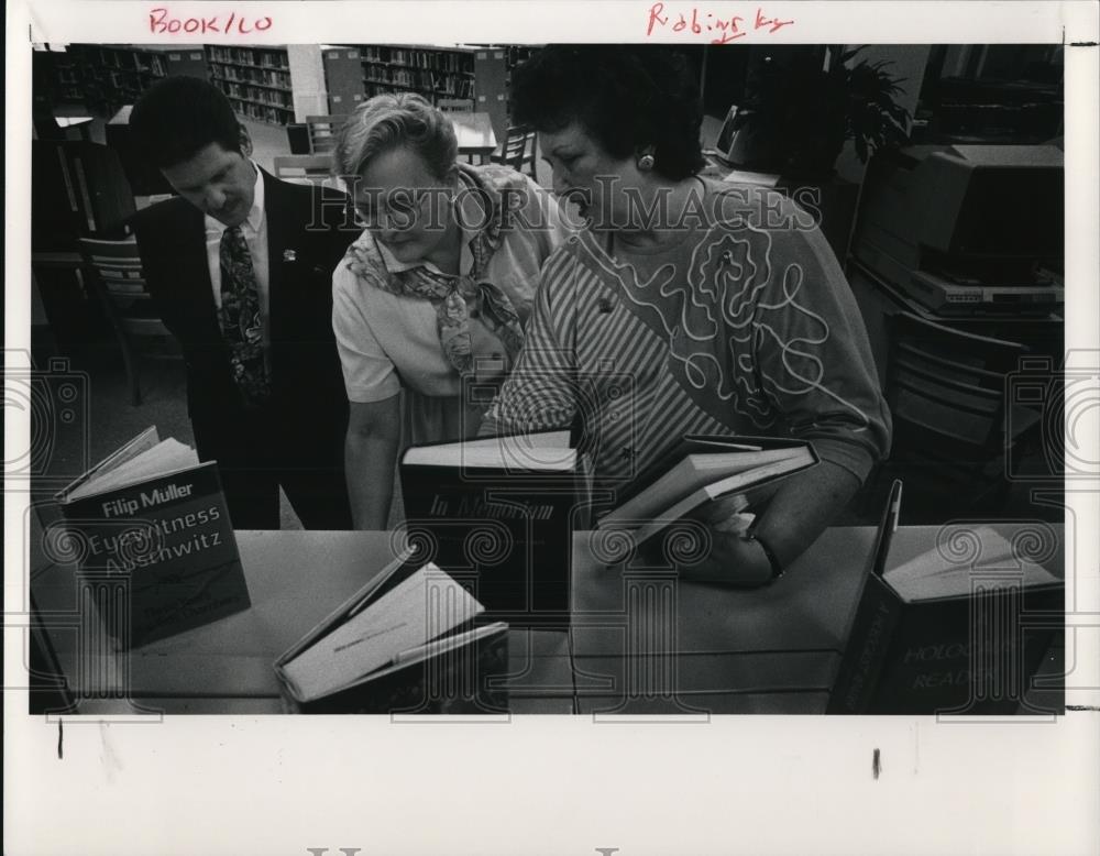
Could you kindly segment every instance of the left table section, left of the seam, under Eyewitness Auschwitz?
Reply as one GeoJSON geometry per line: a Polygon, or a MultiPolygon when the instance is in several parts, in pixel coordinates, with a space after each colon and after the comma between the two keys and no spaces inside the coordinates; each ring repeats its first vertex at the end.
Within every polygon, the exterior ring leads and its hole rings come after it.
{"type": "MultiPolygon", "coordinates": [[[[252,606],[129,655],[112,650],[74,566],[32,573],[37,607],[81,713],[285,712],[276,658],[400,548],[391,533],[238,531],[237,542],[252,606]]],[[[512,712],[572,711],[566,644],[564,627],[509,632],[512,712]]]]}

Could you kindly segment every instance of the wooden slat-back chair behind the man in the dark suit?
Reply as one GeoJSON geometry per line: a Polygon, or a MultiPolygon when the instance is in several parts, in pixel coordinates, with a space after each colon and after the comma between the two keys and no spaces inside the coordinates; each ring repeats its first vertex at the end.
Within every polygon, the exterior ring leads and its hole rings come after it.
{"type": "Polygon", "coordinates": [[[122,348],[130,399],[138,406],[141,404],[135,364],[139,350],[151,359],[178,360],[182,356],[179,347],[157,316],[145,289],[136,241],[132,238],[127,241],[81,238],[80,255],[122,348]]]}

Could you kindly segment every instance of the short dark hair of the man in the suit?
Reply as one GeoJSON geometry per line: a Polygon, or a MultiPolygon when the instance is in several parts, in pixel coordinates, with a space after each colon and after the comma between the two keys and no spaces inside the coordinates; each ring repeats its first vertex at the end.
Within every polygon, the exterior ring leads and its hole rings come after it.
{"type": "Polygon", "coordinates": [[[189,161],[210,143],[241,151],[241,125],[224,94],[197,77],[165,77],[145,90],[130,113],[141,157],[163,169],[189,161]]]}

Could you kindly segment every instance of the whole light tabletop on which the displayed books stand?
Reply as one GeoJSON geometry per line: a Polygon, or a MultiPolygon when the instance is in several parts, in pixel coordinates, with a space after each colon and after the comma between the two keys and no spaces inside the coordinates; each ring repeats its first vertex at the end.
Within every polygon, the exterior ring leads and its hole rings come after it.
{"type": "MultiPolygon", "coordinates": [[[[1011,535],[1018,526],[994,528],[1011,535]]],[[[939,533],[935,526],[900,528],[890,566],[934,549],[939,533]]],[[[1050,525],[1050,533],[1057,548],[1044,566],[1060,573],[1063,527],[1050,525]]],[[[398,547],[388,533],[237,537],[252,607],[129,655],[106,644],[89,650],[87,635],[81,641],[73,566],[32,574],[81,713],[284,712],[275,659],[398,547]],[[129,701],[117,698],[120,684],[131,688],[129,701]]],[[[600,534],[580,533],[569,625],[509,630],[509,710],[821,713],[872,537],[871,527],[829,529],[773,585],[736,590],[682,581],[671,569],[606,566],[597,558],[606,558],[600,534]]]]}

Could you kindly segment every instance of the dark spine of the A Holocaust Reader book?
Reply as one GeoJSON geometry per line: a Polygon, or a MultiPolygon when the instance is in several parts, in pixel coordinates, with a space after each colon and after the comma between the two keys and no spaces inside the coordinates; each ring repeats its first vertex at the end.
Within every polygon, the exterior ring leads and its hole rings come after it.
{"type": "Polygon", "coordinates": [[[826,713],[867,710],[901,618],[900,599],[875,574],[865,580],[858,603],[826,713]]]}

